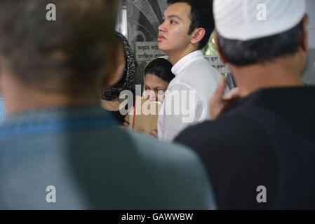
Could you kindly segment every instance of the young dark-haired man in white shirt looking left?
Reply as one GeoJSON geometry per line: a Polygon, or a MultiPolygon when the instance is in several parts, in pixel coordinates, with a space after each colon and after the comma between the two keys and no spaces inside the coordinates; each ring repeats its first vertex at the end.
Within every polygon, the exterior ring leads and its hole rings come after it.
{"type": "Polygon", "coordinates": [[[159,27],[159,49],[173,64],[170,82],[158,120],[158,136],[172,141],[189,125],[208,118],[209,99],[220,80],[203,57],[214,29],[212,1],[168,0],[159,27]]]}

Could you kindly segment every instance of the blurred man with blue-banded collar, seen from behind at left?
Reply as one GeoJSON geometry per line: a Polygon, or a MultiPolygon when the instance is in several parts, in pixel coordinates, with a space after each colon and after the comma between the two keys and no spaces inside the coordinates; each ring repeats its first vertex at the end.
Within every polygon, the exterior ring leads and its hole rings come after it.
{"type": "Polygon", "coordinates": [[[0,209],[215,208],[194,153],[114,127],[100,107],[114,2],[0,1],[0,209]]]}

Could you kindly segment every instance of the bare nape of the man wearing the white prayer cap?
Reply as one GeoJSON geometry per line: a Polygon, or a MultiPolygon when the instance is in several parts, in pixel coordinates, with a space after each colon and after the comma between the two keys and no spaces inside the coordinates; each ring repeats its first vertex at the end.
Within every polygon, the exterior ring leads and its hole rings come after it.
{"type": "Polygon", "coordinates": [[[229,67],[239,87],[241,97],[246,97],[257,90],[272,87],[303,86],[302,69],[291,60],[278,59],[266,64],[229,67]]]}

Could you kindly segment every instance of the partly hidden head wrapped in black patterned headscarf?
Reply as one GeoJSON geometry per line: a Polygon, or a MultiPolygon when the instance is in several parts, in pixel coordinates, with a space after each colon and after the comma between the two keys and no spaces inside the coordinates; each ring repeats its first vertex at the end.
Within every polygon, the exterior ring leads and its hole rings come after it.
{"type": "Polygon", "coordinates": [[[133,52],[126,37],[117,31],[116,43],[109,63],[111,66],[106,72],[101,98],[111,101],[119,98],[121,91],[133,90],[135,81],[133,52]]]}

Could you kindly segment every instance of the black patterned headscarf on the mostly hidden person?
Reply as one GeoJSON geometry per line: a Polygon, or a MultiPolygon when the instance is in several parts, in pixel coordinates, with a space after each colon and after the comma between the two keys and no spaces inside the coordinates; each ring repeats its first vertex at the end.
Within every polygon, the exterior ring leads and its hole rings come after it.
{"type": "Polygon", "coordinates": [[[123,73],[123,78],[109,90],[102,90],[101,98],[112,101],[119,98],[119,94],[123,90],[133,90],[135,83],[135,59],[131,51],[128,40],[123,34],[116,31],[116,36],[123,42],[125,48],[126,68],[123,73]]]}

